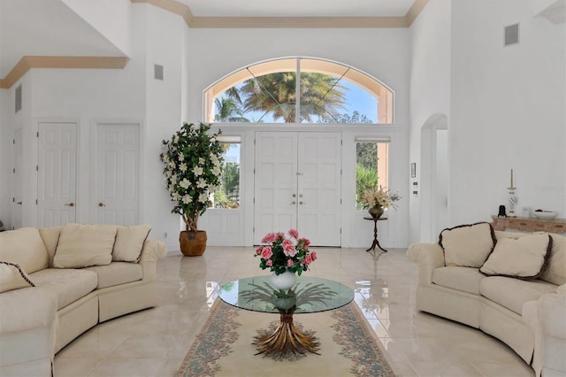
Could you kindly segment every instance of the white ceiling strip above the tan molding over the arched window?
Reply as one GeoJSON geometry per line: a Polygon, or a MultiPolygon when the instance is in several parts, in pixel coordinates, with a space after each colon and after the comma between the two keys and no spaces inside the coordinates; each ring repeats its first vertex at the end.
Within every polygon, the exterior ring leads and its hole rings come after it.
{"type": "Polygon", "coordinates": [[[195,17],[403,17],[414,0],[177,0],[195,17]]]}

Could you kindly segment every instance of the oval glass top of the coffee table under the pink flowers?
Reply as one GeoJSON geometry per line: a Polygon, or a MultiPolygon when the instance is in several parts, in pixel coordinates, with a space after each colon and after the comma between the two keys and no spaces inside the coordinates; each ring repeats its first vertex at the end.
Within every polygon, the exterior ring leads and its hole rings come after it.
{"type": "Polygon", "coordinates": [[[294,308],[294,313],[325,312],[340,308],[354,299],[354,291],[338,281],[298,276],[287,295],[275,295],[271,276],[253,276],[230,281],[220,287],[222,301],[254,312],[278,313],[294,308]],[[295,305],[295,306],[294,306],[295,305]]]}

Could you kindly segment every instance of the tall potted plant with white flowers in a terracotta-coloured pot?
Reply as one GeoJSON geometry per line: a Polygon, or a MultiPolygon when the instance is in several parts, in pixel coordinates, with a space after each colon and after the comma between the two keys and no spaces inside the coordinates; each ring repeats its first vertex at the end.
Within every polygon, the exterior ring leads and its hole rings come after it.
{"type": "Polygon", "coordinates": [[[185,256],[203,255],[206,232],[198,230],[199,217],[210,207],[210,193],[220,184],[224,150],[210,125],[184,123],[171,140],[164,140],[159,158],[164,163],[165,186],[174,204],[171,212],[185,222],[180,250],[185,256]]]}

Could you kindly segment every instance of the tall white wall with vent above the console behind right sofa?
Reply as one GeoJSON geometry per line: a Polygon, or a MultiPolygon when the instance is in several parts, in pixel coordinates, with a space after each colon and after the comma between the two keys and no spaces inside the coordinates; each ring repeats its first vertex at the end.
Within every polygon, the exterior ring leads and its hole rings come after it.
{"type": "Polygon", "coordinates": [[[518,212],[566,217],[566,24],[532,17],[529,0],[452,2],[450,219],[490,220],[508,203],[514,168],[518,212]],[[503,47],[503,27],[520,43],[503,47]]]}

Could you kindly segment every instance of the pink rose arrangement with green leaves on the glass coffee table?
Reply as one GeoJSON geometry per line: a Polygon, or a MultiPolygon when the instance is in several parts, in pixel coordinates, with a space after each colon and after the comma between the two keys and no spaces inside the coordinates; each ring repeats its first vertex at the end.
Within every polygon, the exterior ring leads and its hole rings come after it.
{"type": "Polygon", "coordinates": [[[307,238],[299,238],[299,232],[295,229],[289,230],[289,235],[291,239],[282,232],[264,236],[262,243],[265,244],[259,245],[254,255],[260,257],[259,267],[262,270],[269,268],[276,275],[288,270],[300,276],[317,260],[317,252],[309,250],[310,241],[307,238]]]}

